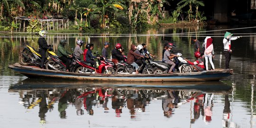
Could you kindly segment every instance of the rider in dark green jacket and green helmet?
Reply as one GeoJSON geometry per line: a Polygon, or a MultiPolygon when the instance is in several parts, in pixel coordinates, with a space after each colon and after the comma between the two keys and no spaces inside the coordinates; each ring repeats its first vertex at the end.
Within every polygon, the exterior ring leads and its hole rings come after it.
{"type": "Polygon", "coordinates": [[[67,43],[67,40],[65,39],[60,40],[60,44],[58,45],[58,48],[57,48],[57,51],[58,51],[57,55],[59,56],[59,59],[62,60],[66,65],[66,71],[70,72],[70,65],[69,65],[70,60],[68,57],[72,57],[72,53],[70,53],[65,49],[66,43],[67,43]]]}

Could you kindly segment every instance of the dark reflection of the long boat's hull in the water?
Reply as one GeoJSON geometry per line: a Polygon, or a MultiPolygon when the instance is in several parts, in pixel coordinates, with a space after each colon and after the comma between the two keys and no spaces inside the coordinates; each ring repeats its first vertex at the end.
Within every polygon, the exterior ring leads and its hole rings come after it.
{"type": "Polygon", "coordinates": [[[16,85],[11,85],[9,91],[15,90],[45,90],[45,89],[75,89],[75,88],[126,88],[126,89],[157,89],[183,90],[204,92],[229,92],[231,86],[219,82],[87,82],[52,79],[25,79],[16,85]]]}

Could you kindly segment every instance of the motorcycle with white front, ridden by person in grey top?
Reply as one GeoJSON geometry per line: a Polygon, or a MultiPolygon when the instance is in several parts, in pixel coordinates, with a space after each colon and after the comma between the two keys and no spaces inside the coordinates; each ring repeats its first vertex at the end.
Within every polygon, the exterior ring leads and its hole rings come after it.
{"type": "MultiPolygon", "coordinates": [[[[175,54],[177,57],[174,57],[174,64],[176,71],[180,73],[190,73],[193,72],[193,67],[189,64],[185,58],[182,56],[181,53],[175,54]]],[[[161,74],[161,73],[168,73],[169,69],[171,68],[170,64],[166,64],[162,61],[152,61],[150,60],[149,64],[154,69],[153,74],[161,74]]]]}

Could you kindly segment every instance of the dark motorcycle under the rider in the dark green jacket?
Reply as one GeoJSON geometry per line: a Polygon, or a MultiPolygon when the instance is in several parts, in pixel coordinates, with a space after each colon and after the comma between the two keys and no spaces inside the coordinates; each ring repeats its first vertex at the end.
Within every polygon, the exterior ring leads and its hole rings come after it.
{"type": "MultiPolygon", "coordinates": [[[[66,71],[66,65],[57,55],[49,55],[50,60],[46,63],[46,69],[55,71],[66,71]]],[[[75,57],[72,55],[70,60],[70,72],[73,72],[76,65],[75,57]]]]}

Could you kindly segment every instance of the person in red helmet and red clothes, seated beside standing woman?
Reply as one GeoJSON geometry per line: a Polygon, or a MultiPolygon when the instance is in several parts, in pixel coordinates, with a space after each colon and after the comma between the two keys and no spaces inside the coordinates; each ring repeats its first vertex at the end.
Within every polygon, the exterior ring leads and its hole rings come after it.
{"type": "Polygon", "coordinates": [[[189,60],[185,59],[189,64],[192,65],[192,67],[197,70],[198,72],[201,72],[204,70],[204,64],[203,64],[203,59],[201,57],[201,53],[196,51],[194,53],[195,57],[197,58],[197,60],[195,62],[190,62],[189,60]]]}

